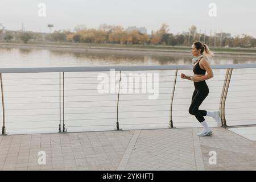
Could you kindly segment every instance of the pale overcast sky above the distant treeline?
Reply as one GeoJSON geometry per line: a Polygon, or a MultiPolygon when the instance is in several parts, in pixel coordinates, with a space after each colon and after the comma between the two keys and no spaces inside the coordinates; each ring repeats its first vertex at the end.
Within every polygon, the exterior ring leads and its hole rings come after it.
{"type": "Polygon", "coordinates": [[[247,34],[256,38],[255,0],[0,0],[0,23],[7,30],[48,32],[85,24],[98,28],[100,24],[146,27],[148,34],[162,23],[170,32],[187,31],[194,24],[197,30],[247,34]],[[39,3],[46,4],[46,16],[38,15],[39,3]],[[217,16],[209,16],[209,4],[216,3],[217,16]]]}

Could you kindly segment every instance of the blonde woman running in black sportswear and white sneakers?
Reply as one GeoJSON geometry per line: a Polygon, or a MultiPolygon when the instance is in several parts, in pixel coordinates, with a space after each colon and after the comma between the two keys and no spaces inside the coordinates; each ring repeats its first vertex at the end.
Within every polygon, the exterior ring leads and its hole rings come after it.
{"type": "Polygon", "coordinates": [[[221,126],[220,111],[209,112],[206,110],[199,110],[199,106],[209,94],[209,88],[205,80],[213,77],[212,68],[207,61],[208,58],[213,56],[206,44],[195,42],[192,45],[191,53],[195,58],[192,60],[194,76],[186,76],[181,73],[181,78],[191,80],[194,82],[195,91],[192,96],[191,106],[189,107],[189,114],[195,115],[196,119],[204,127],[201,133],[197,136],[203,137],[212,134],[212,130],[204,119],[204,116],[210,116],[215,119],[217,126],[221,126]],[[207,75],[205,75],[207,72],[207,75]]]}

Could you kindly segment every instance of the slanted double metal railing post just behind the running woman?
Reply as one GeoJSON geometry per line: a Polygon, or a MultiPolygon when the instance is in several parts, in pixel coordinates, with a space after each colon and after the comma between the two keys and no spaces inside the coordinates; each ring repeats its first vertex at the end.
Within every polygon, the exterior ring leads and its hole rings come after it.
{"type": "Polygon", "coordinates": [[[225,103],[226,103],[226,96],[228,94],[230,78],[232,76],[232,71],[233,71],[233,68],[227,69],[224,85],[221,92],[220,111],[221,111],[221,123],[223,127],[227,127],[226,118],[225,118],[225,103]]]}

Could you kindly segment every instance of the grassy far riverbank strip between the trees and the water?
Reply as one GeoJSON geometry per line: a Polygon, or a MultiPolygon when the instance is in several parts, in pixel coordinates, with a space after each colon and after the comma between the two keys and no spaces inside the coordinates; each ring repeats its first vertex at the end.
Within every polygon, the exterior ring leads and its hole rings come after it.
{"type": "MultiPolygon", "coordinates": [[[[75,52],[108,52],[108,53],[126,53],[139,55],[191,55],[190,47],[172,47],[172,46],[141,46],[141,45],[120,45],[120,44],[81,44],[81,43],[42,43],[29,42],[6,43],[0,42],[0,48],[24,48],[24,49],[56,49],[75,52]]],[[[212,48],[216,57],[241,57],[256,59],[255,48],[212,48]]]]}

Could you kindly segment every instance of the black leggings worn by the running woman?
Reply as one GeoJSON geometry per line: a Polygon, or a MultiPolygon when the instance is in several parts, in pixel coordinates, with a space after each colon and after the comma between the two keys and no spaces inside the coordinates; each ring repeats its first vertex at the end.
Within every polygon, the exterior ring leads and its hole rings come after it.
{"type": "Polygon", "coordinates": [[[206,110],[199,110],[199,106],[209,94],[209,88],[205,81],[194,82],[195,91],[192,96],[189,114],[195,115],[196,119],[201,123],[204,121],[204,116],[207,115],[206,110]]]}

